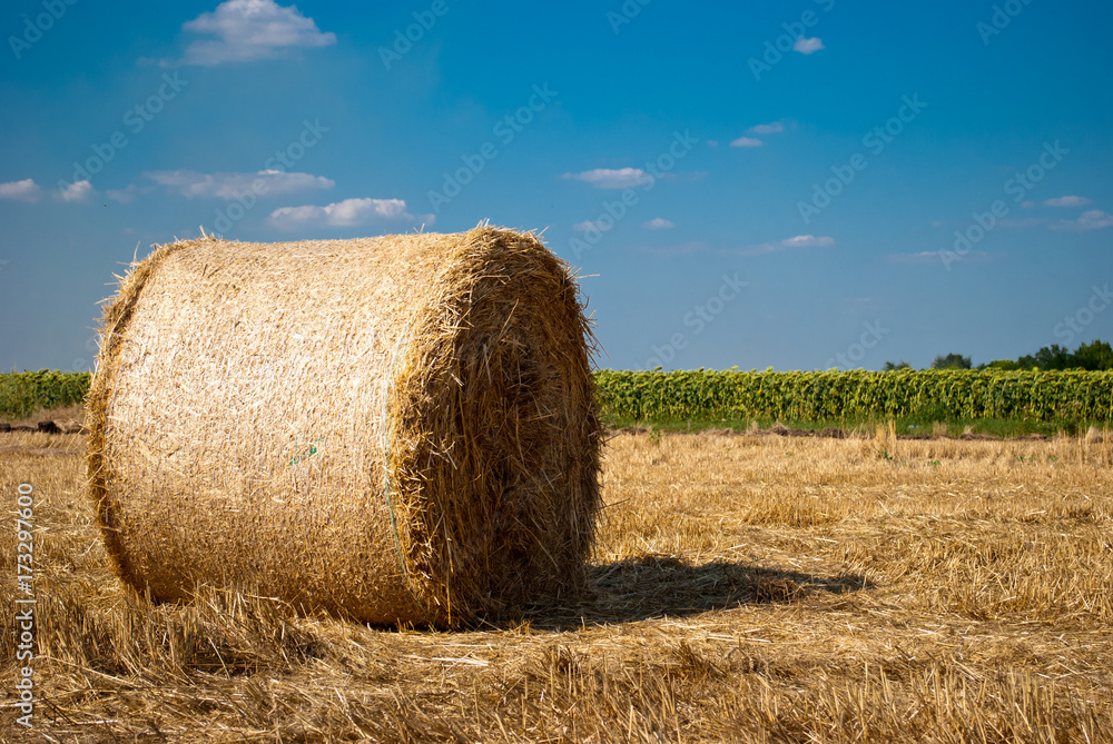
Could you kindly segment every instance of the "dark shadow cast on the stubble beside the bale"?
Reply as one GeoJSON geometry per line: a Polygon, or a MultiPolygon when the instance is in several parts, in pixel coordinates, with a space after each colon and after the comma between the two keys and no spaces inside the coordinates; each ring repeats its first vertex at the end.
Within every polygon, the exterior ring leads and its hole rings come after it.
{"type": "Polygon", "coordinates": [[[873,586],[858,574],[824,577],[742,563],[691,565],[674,557],[642,556],[590,567],[588,589],[579,603],[535,607],[525,618],[536,628],[564,629],[786,604],[873,586]]]}

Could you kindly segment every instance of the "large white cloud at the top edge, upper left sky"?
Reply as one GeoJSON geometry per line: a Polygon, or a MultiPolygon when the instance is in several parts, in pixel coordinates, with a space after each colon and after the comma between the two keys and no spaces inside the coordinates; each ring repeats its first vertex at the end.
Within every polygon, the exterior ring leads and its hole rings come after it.
{"type": "Polygon", "coordinates": [[[217,37],[194,41],[181,65],[214,66],[270,59],[295,48],[327,47],[335,33],[323,33],[297,6],[282,7],[274,0],[227,0],[210,13],[201,13],[181,29],[217,37]]]}

